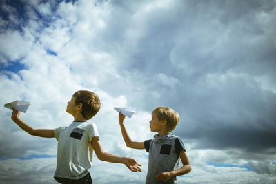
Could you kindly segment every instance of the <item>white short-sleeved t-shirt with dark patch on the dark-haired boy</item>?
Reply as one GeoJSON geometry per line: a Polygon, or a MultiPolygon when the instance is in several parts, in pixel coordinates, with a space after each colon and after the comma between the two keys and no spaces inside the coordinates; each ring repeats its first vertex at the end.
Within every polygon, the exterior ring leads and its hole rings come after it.
{"type": "Polygon", "coordinates": [[[77,180],[88,174],[92,165],[92,138],[99,136],[95,123],[74,121],[54,130],[57,144],[57,169],[54,177],[77,180]]]}

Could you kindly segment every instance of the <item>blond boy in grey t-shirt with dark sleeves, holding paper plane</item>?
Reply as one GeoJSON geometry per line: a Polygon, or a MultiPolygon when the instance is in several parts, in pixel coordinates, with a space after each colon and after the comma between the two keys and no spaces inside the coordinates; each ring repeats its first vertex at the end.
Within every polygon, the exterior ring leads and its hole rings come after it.
{"type": "Polygon", "coordinates": [[[158,107],[152,111],[150,121],[151,132],[157,132],[154,139],[144,142],[135,142],[130,139],[124,119],[126,116],[119,113],[119,125],[127,147],[146,149],[149,152],[148,174],[146,184],[177,183],[176,176],[187,174],[191,171],[190,161],[186,154],[184,144],[179,137],[170,133],[179,122],[177,112],[168,107],[158,107]],[[179,158],[183,166],[178,168],[179,158]]]}

